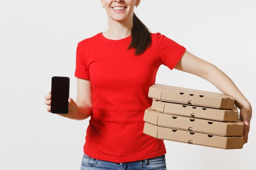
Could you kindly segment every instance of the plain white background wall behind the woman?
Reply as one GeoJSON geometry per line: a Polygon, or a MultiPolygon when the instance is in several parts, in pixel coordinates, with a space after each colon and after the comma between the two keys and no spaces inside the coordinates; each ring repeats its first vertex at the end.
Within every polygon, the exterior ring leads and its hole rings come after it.
{"type": "MultiPolygon", "coordinates": [[[[255,110],[255,0],[141,0],[135,13],[226,73],[255,110]]],[[[79,170],[89,119],[46,111],[51,77],[70,77],[76,99],[79,41],[108,29],[100,0],[9,0],[0,5],[0,169],[79,170]]],[[[162,65],[156,83],[220,92],[206,80],[162,65]]],[[[220,82],[221,83],[221,82],[220,82]]],[[[165,141],[167,169],[255,168],[255,117],[243,149],[165,141]]]]}

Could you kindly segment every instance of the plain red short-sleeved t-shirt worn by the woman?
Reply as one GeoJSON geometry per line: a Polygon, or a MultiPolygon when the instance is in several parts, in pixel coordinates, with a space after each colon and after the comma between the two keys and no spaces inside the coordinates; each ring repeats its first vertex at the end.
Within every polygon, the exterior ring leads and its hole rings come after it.
{"type": "Polygon", "coordinates": [[[110,40],[98,33],[77,45],[75,77],[90,79],[92,114],[83,151],[94,159],[128,162],[166,154],[162,139],[143,133],[144,111],[153,99],[161,64],[171,70],[186,49],[161,33],[150,33],[151,46],[135,56],[127,51],[131,35],[110,40]]]}

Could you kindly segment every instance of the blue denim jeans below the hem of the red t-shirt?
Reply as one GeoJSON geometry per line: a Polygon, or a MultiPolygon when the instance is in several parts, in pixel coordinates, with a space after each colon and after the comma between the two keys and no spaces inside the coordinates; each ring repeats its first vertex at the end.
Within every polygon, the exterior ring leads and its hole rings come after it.
{"type": "Polygon", "coordinates": [[[139,161],[115,163],[83,154],[81,170],[166,170],[165,155],[139,161]]]}

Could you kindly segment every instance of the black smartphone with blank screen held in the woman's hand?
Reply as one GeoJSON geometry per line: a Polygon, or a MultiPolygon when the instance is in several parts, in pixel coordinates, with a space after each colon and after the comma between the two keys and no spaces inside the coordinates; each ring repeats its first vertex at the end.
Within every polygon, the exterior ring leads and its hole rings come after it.
{"type": "Polygon", "coordinates": [[[68,113],[68,98],[70,94],[69,77],[52,77],[51,112],[59,114],[68,113]]]}

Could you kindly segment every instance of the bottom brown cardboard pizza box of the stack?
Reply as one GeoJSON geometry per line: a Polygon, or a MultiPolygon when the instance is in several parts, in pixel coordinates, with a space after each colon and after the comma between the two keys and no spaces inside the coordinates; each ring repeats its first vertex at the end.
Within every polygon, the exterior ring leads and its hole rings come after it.
{"type": "Polygon", "coordinates": [[[209,146],[222,149],[240,149],[243,148],[244,137],[222,137],[217,135],[207,135],[199,132],[190,132],[173,128],[155,126],[145,122],[144,134],[150,135],[157,139],[171,140],[209,146]]]}

